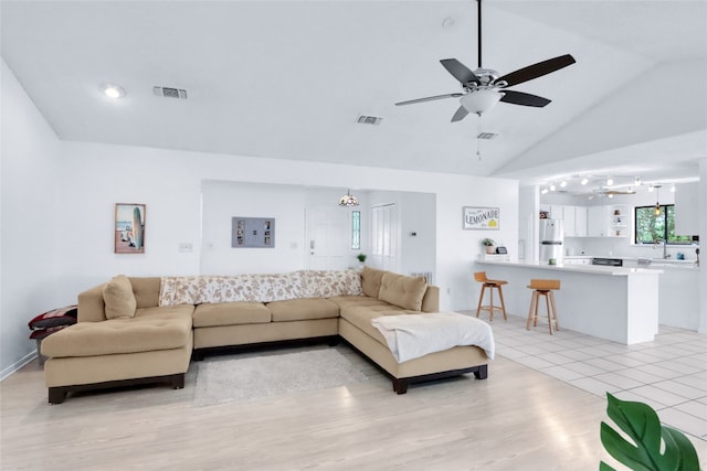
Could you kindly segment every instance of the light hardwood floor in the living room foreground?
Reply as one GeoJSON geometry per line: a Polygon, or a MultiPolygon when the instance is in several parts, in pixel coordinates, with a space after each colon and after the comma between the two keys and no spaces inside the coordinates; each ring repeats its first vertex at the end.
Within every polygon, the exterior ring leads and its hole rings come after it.
{"type": "Polygon", "coordinates": [[[497,357],[486,381],[467,375],[398,396],[378,370],[337,349],[369,379],[211,407],[193,406],[193,363],[181,390],[49,406],[34,361],[0,384],[0,468],[566,471],[611,460],[599,438],[605,400],[519,363],[497,357]]]}

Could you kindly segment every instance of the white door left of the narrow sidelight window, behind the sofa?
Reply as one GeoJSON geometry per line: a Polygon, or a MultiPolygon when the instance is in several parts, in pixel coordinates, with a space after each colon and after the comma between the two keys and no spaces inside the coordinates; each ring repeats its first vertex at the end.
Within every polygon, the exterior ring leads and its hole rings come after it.
{"type": "Polygon", "coordinates": [[[307,269],[342,270],[349,265],[350,211],[341,207],[305,210],[307,269]]]}

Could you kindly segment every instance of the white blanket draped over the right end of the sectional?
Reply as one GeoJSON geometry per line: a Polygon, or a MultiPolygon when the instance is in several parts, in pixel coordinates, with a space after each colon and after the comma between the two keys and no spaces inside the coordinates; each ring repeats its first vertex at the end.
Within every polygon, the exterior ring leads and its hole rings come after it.
{"type": "Polygon", "coordinates": [[[382,315],[371,320],[388,342],[398,363],[461,345],[476,345],[494,360],[490,325],[456,312],[382,315]]]}

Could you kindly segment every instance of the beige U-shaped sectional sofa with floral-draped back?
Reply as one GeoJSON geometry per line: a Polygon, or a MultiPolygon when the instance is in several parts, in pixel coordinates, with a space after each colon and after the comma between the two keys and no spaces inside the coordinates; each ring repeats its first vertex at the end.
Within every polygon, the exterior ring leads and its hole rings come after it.
{"type": "Polygon", "coordinates": [[[455,346],[398,363],[371,319],[439,311],[424,278],[365,267],[232,277],[115,277],[78,295],[78,322],[42,342],[50,404],[70,392],[124,384],[183,387],[190,358],[224,347],[344,339],[386,371],[393,389],[474,372],[477,346],[455,346]]]}

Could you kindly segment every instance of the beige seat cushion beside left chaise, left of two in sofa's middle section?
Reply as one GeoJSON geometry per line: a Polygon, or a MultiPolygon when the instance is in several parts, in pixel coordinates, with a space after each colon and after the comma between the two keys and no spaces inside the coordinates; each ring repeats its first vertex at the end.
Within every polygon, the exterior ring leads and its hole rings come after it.
{"type": "Polygon", "coordinates": [[[272,320],[271,311],[262,302],[207,302],[194,310],[194,328],[219,325],[263,324],[272,320]]]}

